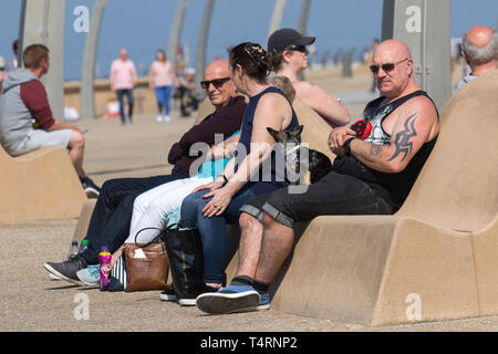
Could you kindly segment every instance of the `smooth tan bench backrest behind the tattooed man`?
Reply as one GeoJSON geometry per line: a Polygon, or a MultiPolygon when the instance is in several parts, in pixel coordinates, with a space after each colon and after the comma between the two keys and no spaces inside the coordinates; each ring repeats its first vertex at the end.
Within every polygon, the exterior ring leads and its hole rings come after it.
{"type": "Polygon", "coordinates": [[[466,84],[440,118],[436,146],[398,215],[480,230],[498,215],[498,71],[466,84]]]}

